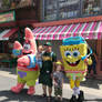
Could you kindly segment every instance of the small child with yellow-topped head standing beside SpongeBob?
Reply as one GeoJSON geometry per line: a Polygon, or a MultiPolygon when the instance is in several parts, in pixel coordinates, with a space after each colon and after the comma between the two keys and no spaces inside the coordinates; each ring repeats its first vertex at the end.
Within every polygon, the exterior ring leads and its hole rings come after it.
{"type": "Polygon", "coordinates": [[[58,61],[55,71],[53,73],[54,81],[54,95],[55,100],[60,96],[60,101],[62,101],[62,88],[63,88],[63,73],[62,73],[62,63],[58,61]]]}

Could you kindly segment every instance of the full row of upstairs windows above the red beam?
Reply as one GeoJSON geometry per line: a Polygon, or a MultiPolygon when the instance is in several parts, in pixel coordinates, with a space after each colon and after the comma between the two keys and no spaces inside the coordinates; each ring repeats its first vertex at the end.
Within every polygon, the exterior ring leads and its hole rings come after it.
{"type": "Polygon", "coordinates": [[[102,0],[42,0],[42,21],[102,14],[102,0]]]}

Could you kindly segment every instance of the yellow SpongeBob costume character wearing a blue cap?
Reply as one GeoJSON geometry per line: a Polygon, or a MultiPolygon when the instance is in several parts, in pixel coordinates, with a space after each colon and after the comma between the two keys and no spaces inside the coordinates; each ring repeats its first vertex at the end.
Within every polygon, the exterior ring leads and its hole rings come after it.
{"type": "Polygon", "coordinates": [[[86,75],[88,64],[92,64],[92,60],[88,59],[92,50],[90,49],[88,54],[88,49],[89,45],[82,37],[64,39],[60,47],[64,71],[70,79],[70,86],[73,90],[70,102],[82,102],[84,100],[83,91],[80,91],[79,86],[86,75]]]}

